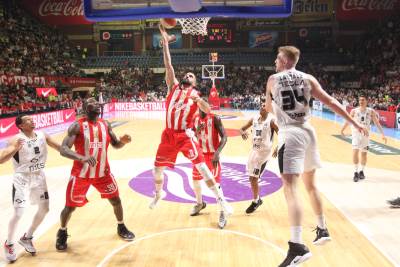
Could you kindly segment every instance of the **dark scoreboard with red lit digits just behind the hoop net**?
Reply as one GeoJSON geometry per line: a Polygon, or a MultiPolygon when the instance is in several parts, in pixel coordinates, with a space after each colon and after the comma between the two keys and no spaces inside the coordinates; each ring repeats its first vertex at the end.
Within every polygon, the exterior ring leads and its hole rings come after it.
{"type": "Polygon", "coordinates": [[[197,36],[199,47],[226,47],[234,43],[234,22],[210,22],[207,25],[206,36],[197,36]]]}

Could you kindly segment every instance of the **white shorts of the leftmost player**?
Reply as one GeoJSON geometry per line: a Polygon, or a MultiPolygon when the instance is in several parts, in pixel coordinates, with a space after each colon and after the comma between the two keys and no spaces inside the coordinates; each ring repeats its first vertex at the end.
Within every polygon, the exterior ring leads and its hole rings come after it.
{"type": "Polygon", "coordinates": [[[24,208],[28,201],[32,205],[49,201],[46,176],[43,171],[15,173],[13,177],[12,200],[15,208],[24,208]]]}

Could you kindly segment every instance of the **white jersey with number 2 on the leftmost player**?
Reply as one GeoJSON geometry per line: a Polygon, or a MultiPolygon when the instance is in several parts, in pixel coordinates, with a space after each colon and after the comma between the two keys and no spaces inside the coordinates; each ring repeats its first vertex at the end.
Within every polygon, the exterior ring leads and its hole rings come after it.
{"type": "Polygon", "coordinates": [[[47,160],[46,136],[41,131],[34,131],[34,138],[19,133],[16,138],[22,138],[24,145],[13,156],[16,173],[31,173],[44,169],[47,160]]]}

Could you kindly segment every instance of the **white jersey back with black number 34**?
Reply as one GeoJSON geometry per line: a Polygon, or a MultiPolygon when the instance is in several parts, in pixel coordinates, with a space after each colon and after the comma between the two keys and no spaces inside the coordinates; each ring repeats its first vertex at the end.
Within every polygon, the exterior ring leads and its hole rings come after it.
{"type": "Polygon", "coordinates": [[[311,116],[308,74],[290,69],[274,74],[273,78],[272,107],[279,127],[306,123],[311,116]]]}

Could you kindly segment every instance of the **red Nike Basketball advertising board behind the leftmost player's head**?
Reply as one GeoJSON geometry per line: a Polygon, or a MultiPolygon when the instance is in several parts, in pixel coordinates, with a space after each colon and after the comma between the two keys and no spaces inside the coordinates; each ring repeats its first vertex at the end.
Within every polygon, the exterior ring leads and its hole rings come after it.
{"type": "MultiPolygon", "coordinates": [[[[75,110],[64,109],[54,112],[46,112],[28,115],[35,123],[36,129],[42,129],[50,126],[71,123],[75,121],[75,110]]],[[[15,125],[15,117],[0,119],[0,139],[19,133],[15,125]]]]}

